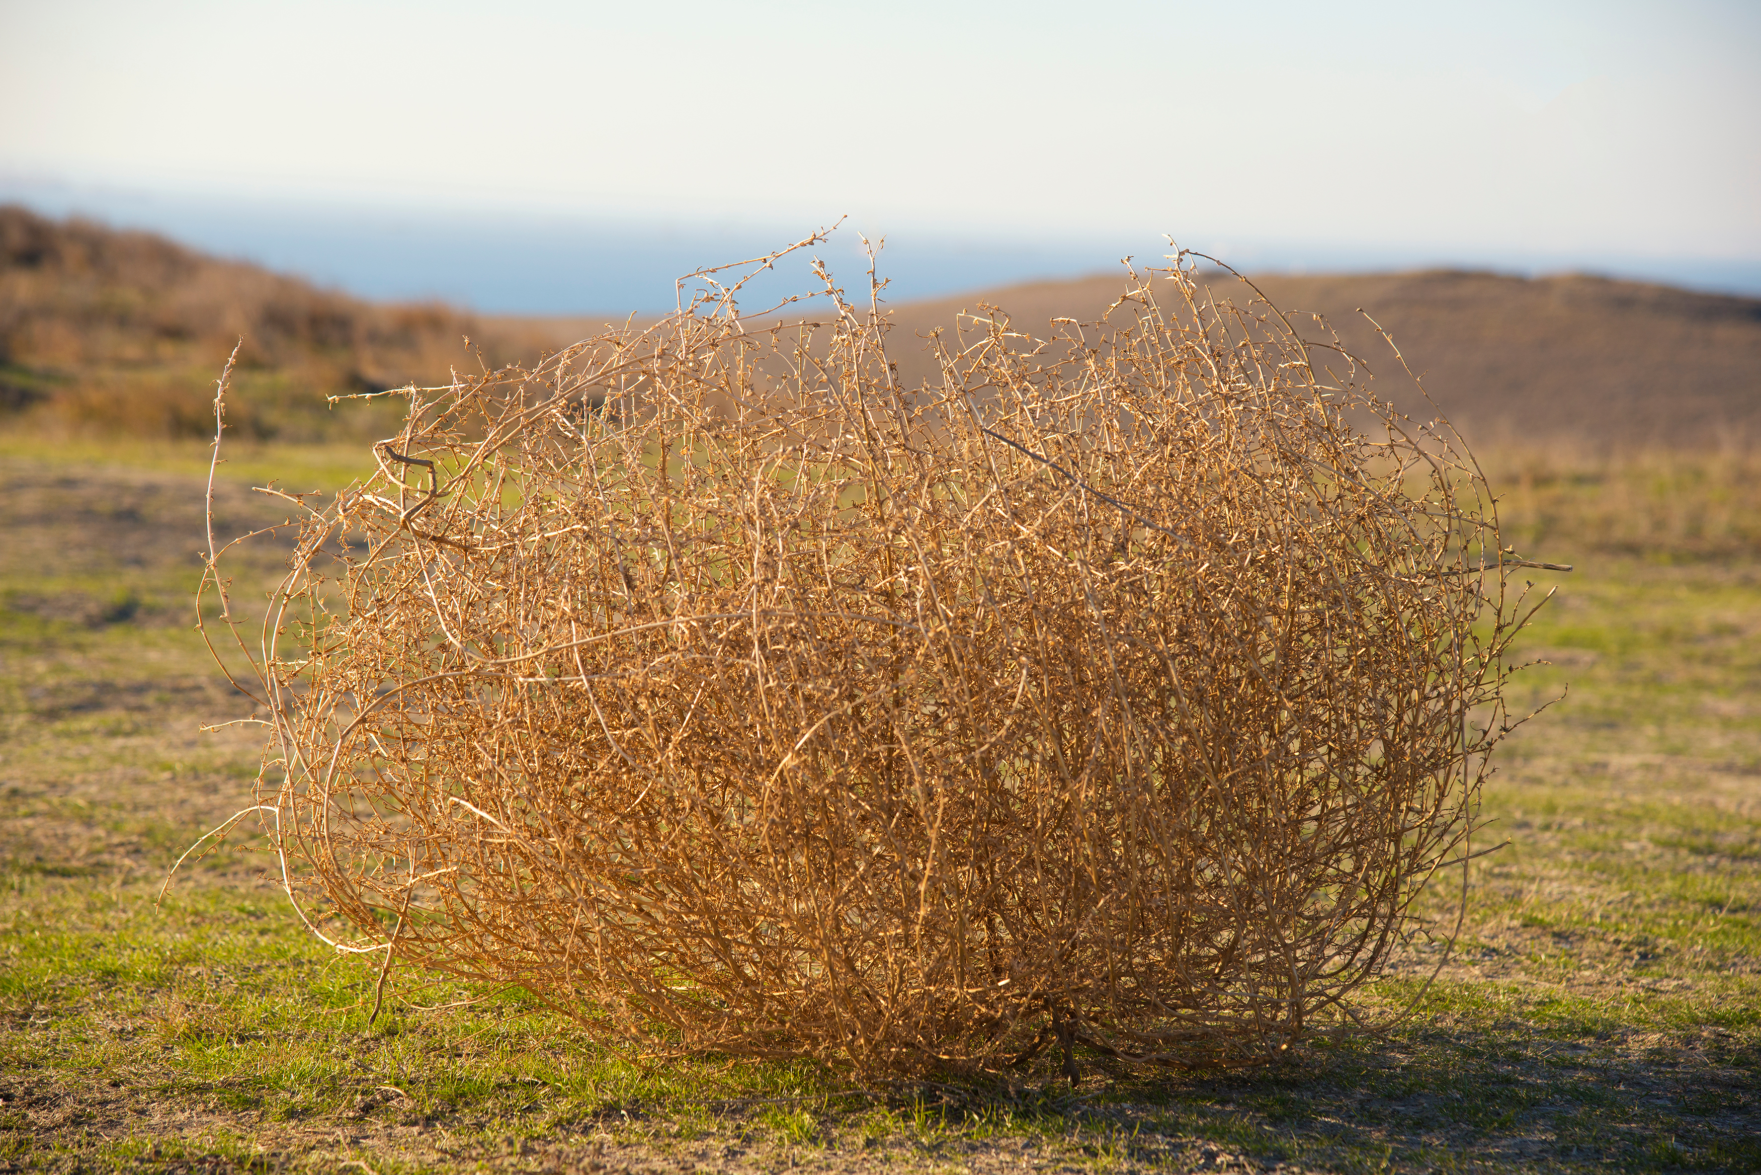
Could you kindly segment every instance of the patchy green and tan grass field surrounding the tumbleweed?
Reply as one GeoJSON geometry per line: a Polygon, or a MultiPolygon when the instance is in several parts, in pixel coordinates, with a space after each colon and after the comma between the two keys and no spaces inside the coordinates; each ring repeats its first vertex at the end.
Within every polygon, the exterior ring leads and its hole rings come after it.
{"type": "MultiPolygon", "coordinates": [[[[1580,566],[1514,693],[1569,697],[1506,748],[1511,844],[1407,1024],[1263,1071],[856,1089],[643,1066],[519,992],[402,978],[368,1024],[373,967],[319,950],[259,853],[155,904],[255,770],[197,730],[239,712],[188,630],[204,452],[0,440],[0,1171],[1761,1170],[1754,463],[1493,466],[1522,554],[1580,566]]],[[[356,461],[241,452],[220,524],[276,517],[252,480],[356,461]]]]}

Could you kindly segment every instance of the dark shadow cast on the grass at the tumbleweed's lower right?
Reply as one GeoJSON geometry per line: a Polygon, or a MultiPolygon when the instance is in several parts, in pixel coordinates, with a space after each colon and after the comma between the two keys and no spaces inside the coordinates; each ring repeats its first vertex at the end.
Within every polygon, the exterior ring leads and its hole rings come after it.
{"type": "Polygon", "coordinates": [[[1507,1020],[1310,1045],[1259,1071],[1116,1080],[1055,1113],[1085,1135],[1189,1136],[1323,1170],[1761,1170],[1757,1089],[1761,1052],[1735,1034],[1507,1020]]]}

